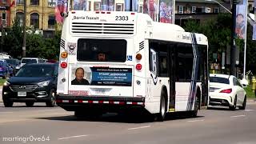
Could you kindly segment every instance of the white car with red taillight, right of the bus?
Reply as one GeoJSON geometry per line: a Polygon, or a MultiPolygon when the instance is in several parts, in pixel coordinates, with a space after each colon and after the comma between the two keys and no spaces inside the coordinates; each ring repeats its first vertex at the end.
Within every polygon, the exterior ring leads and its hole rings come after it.
{"type": "Polygon", "coordinates": [[[246,109],[246,91],[233,75],[210,74],[209,106],[246,109]]]}

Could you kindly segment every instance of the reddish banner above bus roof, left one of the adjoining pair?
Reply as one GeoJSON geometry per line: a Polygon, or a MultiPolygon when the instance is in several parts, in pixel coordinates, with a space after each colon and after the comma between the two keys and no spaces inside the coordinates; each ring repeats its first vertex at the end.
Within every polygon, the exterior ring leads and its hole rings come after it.
{"type": "Polygon", "coordinates": [[[154,22],[158,22],[159,0],[143,0],[143,13],[149,14],[154,22]]]}

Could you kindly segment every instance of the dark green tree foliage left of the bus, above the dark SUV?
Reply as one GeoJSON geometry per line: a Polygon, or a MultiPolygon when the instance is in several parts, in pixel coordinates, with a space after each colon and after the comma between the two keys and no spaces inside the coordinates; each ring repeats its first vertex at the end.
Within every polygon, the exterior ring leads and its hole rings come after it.
{"type": "MultiPolygon", "coordinates": [[[[27,28],[26,57],[58,59],[60,37],[60,31],[55,32],[54,38],[44,38],[42,34],[35,34],[33,29],[27,28]]],[[[3,52],[14,58],[22,58],[23,30],[17,20],[6,30],[2,39],[3,52]]]]}

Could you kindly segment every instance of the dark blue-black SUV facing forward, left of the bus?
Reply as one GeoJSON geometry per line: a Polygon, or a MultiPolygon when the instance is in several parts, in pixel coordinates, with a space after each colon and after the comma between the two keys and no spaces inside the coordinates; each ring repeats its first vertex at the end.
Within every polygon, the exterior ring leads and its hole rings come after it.
{"type": "Polygon", "coordinates": [[[2,88],[4,106],[13,106],[14,102],[46,102],[46,106],[55,105],[58,64],[26,64],[18,73],[8,79],[2,88]]]}

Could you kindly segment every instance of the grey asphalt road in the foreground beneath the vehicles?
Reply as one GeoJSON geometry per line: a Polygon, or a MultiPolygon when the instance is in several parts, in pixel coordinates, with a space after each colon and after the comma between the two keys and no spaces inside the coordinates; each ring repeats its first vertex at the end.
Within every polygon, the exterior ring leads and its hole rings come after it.
{"type": "Polygon", "coordinates": [[[105,114],[77,119],[72,112],[44,104],[26,107],[0,103],[0,143],[50,144],[255,144],[256,102],[246,110],[200,110],[197,118],[170,114],[165,122],[149,122],[105,114]],[[41,138],[41,139],[39,139],[41,138]],[[40,142],[39,142],[40,140],[40,142]]]}

